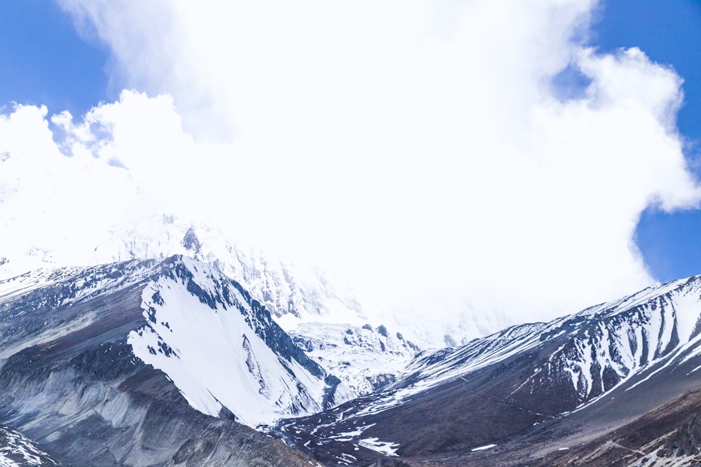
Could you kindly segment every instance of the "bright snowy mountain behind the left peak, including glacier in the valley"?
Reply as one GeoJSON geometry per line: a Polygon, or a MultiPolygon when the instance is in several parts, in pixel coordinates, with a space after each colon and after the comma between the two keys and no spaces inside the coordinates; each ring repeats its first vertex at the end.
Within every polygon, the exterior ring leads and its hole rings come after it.
{"type": "MultiPolygon", "coordinates": [[[[400,335],[407,333],[404,328],[396,329],[389,337],[360,336],[367,334],[362,326],[380,328],[379,317],[367,319],[353,293],[342,290],[319,268],[300,267],[279,249],[267,249],[264,253],[258,247],[242,247],[222,230],[206,225],[196,228],[175,215],[154,216],[149,214],[150,210],[146,212],[140,218],[130,216],[139,219],[130,221],[130,228],[115,226],[107,237],[94,239],[88,247],[79,244],[74,249],[58,249],[57,246],[55,249],[20,249],[14,256],[4,256],[0,258],[0,279],[36,267],[94,265],[135,258],[163,260],[171,254],[194,258],[212,265],[240,284],[252,299],[271,312],[287,333],[314,342],[318,363],[329,372],[343,368],[343,380],[355,396],[377,389],[383,381],[393,381],[396,373],[418,351],[416,344],[393,343],[397,340],[397,331],[400,335]],[[345,333],[351,328],[360,336],[351,339],[352,342],[345,333]],[[369,342],[374,344],[368,347],[369,342]],[[324,352],[318,352],[320,347],[336,348],[336,351],[323,356],[324,352]],[[341,352],[341,348],[346,350],[341,352]],[[376,364],[368,370],[365,363],[369,361],[376,364]]],[[[411,334],[411,328],[408,331],[411,334]]],[[[407,342],[409,340],[411,337],[407,337],[407,342]]],[[[427,342],[421,344],[425,348],[427,342]]]]}

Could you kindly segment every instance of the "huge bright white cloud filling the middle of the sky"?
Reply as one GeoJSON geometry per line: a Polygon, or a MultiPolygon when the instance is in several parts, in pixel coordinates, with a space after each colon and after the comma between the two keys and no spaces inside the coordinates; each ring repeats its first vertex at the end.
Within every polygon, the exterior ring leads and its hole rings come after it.
{"type": "Polygon", "coordinates": [[[54,118],[68,151],[311,251],[379,309],[475,335],[615,298],[653,282],[641,211],[699,199],[681,79],[586,48],[594,1],[61,3],[151,95],[54,118]],[[592,83],[561,102],[568,66],[592,83]]]}

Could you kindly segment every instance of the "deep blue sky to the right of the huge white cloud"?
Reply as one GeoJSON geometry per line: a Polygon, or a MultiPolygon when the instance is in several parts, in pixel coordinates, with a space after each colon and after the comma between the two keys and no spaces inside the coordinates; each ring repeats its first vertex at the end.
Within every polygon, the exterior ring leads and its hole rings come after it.
{"type": "MultiPolygon", "coordinates": [[[[697,0],[609,1],[594,43],[602,50],[637,46],[684,78],[679,130],[688,139],[686,158],[701,178],[701,2],[697,0]]],[[[637,244],[660,281],[701,274],[701,213],[647,209],[637,244]]]]}

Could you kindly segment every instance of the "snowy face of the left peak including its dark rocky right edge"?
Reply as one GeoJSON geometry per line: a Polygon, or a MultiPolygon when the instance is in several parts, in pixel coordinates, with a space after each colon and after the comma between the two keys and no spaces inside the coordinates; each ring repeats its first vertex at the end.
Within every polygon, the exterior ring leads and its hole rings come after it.
{"type": "Polygon", "coordinates": [[[255,427],[350,398],[236,282],[186,257],[164,272],[144,288],[147,326],[128,343],[192,407],[212,416],[228,410],[255,427]]]}

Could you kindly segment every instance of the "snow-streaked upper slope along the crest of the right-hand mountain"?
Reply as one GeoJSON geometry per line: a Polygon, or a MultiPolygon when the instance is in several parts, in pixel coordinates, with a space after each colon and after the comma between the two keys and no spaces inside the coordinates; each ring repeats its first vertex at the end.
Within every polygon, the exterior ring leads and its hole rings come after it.
{"type": "Polygon", "coordinates": [[[550,323],[514,326],[422,354],[388,390],[401,400],[517,356],[540,356],[511,396],[557,393],[563,411],[570,410],[641,372],[651,377],[701,356],[700,319],[701,277],[680,279],[550,323]]]}

